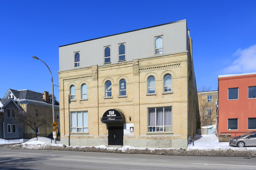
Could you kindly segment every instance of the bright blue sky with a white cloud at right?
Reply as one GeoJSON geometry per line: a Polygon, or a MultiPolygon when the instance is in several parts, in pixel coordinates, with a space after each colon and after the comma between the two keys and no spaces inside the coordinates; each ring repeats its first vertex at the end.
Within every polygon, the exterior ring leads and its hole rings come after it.
{"type": "MultiPolygon", "coordinates": [[[[218,75],[256,72],[255,0],[0,0],[0,98],[9,88],[43,93],[58,85],[58,47],[187,20],[197,88],[218,75]]],[[[54,94],[58,97],[58,87],[54,94]]]]}

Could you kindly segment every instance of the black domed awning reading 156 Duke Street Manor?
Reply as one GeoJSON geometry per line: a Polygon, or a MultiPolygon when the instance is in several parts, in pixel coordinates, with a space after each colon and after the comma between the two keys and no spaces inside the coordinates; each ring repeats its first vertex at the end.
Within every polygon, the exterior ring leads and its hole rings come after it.
{"type": "Polygon", "coordinates": [[[125,117],[121,111],[110,109],[103,114],[101,122],[103,123],[125,122],[125,117]]]}

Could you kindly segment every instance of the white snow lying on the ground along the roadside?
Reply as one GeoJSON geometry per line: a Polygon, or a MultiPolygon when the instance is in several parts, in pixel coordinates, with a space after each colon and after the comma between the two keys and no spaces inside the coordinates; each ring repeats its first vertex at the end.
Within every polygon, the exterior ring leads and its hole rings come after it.
{"type": "MultiPolygon", "coordinates": [[[[13,140],[5,140],[0,139],[0,144],[14,144],[14,143],[22,143],[23,146],[26,146],[27,149],[36,149],[36,148],[42,148],[44,146],[63,146],[62,144],[52,144],[51,140],[46,137],[38,137],[38,141],[36,141],[36,138],[30,139],[28,142],[23,143],[23,139],[13,139],[13,140]]],[[[88,146],[72,146],[75,148],[84,148],[88,146]]],[[[113,150],[116,148],[110,148],[105,145],[101,146],[95,146],[95,148],[103,148],[103,149],[109,149],[113,150]]],[[[196,135],[194,137],[194,146],[192,146],[192,143],[189,144],[187,150],[209,150],[209,149],[223,149],[226,150],[227,148],[234,149],[234,150],[241,150],[242,148],[237,148],[233,146],[229,146],[228,142],[221,142],[219,143],[219,140],[217,137],[213,135],[196,135]]],[[[131,149],[137,149],[137,150],[155,150],[160,148],[135,148],[132,146],[123,146],[118,148],[118,150],[131,150],[131,149]]],[[[165,148],[166,149],[166,148],[165,148]]],[[[171,149],[171,148],[168,148],[171,149]]],[[[256,147],[247,147],[244,149],[248,150],[256,150],[256,147]]]]}

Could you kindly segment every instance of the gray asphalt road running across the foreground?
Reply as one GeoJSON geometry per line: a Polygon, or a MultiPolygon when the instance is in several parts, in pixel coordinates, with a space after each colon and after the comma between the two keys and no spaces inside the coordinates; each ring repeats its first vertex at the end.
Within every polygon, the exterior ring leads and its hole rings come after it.
{"type": "Polygon", "coordinates": [[[256,170],[256,157],[110,154],[0,148],[0,170],[256,170]]]}

